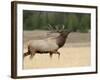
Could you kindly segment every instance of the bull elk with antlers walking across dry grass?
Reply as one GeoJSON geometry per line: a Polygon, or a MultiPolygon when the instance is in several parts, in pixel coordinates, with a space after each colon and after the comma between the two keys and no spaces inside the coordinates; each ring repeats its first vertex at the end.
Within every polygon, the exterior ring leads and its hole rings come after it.
{"type": "Polygon", "coordinates": [[[64,25],[62,27],[52,27],[49,24],[48,28],[51,32],[57,32],[59,33],[59,36],[42,40],[30,40],[27,45],[28,52],[24,53],[24,57],[30,55],[32,58],[36,53],[49,53],[50,57],[52,57],[53,54],[58,54],[58,57],[60,57],[60,52],[58,52],[58,50],[64,46],[66,39],[71,32],[71,30],[65,30],[64,27],[64,25]]]}

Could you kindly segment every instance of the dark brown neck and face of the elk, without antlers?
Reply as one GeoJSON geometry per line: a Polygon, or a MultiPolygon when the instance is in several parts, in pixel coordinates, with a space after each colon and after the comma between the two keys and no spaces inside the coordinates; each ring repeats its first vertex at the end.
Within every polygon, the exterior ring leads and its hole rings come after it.
{"type": "Polygon", "coordinates": [[[68,34],[69,32],[60,33],[60,35],[56,38],[57,45],[59,46],[59,48],[64,46],[66,39],[68,37],[68,34]]]}

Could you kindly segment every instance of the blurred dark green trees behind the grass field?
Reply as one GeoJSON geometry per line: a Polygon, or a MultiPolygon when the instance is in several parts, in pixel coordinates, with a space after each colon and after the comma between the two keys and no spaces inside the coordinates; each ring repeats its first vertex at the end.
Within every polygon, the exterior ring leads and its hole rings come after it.
{"type": "Polygon", "coordinates": [[[87,13],[23,10],[23,28],[24,30],[47,30],[50,24],[64,25],[65,29],[71,29],[73,32],[88,32],[91,26],[90,18],[91,15],[87,13]]]}

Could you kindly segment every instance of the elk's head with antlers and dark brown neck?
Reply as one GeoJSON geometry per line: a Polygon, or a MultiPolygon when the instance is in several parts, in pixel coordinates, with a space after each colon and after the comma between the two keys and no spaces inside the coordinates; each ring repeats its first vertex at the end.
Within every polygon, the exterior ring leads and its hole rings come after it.
{"type": "Polygon", "coordinates": [[[71,32],[71,30],[64,29],[65,28],[64,25],[60,27],[57,25],[52,27],[50,24],[48,24],[48,26],[49,26],[51,33],[55,33],[55,32],[59,33],[59,36],[56,38],[56,43],[59,46],[59,48],[62,47],[65,44],[66,39],[68,38],[68,35],[71,32]]]}

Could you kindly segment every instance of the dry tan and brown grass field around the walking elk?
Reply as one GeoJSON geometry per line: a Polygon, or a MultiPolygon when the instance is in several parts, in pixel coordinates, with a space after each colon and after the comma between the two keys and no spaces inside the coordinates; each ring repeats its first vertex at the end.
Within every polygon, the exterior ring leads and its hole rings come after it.
{"type": "MultiPolygon", "coordinates": [[[[29,40],[56,37],[58,34],[47,35],[48,31],[24,31],[24,51],[27,51],[27,42],[29,40]]],[[[90,34],[71,33],[66,44],[59,49],[59,52],[61,53],[59,59],[57,54],[53,54],[52,59],[49,57],[49,54],[36,54],[33,59],[30,59],[30,56],[27,56],[23,60],[23,68],[89,66],[91,63],[90,34]]]]}

